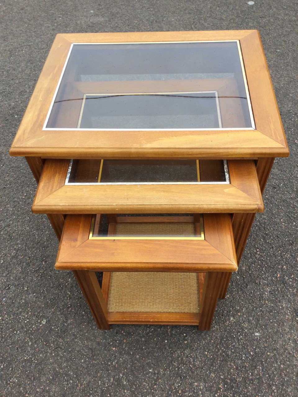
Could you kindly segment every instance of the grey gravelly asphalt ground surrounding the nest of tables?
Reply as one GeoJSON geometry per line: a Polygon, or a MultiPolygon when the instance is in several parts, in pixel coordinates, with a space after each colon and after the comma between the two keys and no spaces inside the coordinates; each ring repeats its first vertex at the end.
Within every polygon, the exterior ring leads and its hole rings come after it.
{"type": "Polygon", "coordinates": [[[0,396],[297,396],[298,3],[0,0],[0,396]],[[259,29],[290,157],[277,159],[209,332],[99,331],[8,150],[56,33],[259,29]]]}

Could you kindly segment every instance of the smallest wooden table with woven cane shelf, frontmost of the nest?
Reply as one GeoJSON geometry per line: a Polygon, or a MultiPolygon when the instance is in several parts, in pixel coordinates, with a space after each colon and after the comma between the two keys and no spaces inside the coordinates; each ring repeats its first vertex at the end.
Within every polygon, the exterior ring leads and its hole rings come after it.
{"type": "Polygon", "coordinates": [[[55,265],[74,271],[99,328],[209,330],[226,273],[237,270],[230,215],[109,215],[106,237],[102,218],[67,216],[55,265]],[[104,272],[102,293],[95,272],[104,272]]]}

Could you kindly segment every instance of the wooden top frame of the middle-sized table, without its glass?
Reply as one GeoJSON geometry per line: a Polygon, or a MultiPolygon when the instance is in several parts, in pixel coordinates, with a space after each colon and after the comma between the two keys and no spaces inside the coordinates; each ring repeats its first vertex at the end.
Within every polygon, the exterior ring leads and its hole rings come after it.
{"type": "Polygon", "coordinates": [[[229,160],[230,184],[65,185],[68,160],[46,160],[34,213],[263,212],[252,160],[229,160]],[[99,199],[100,198],[100,199],[99,199]]]}

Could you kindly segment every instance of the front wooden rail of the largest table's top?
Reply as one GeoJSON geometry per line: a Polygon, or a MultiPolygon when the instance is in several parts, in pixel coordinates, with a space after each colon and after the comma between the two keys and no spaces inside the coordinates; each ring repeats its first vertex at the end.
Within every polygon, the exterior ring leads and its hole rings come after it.
{"type": "Polygon", "coordinates": [[[45,158],[256,158],[287,157],[288,149],[258,130],[43,131],[14,143],[11,156],[45,158]],[[56,140],[56,141],[55,141],[56,140]],[[33,142],[35,146],[33,146],[33,142]],[[76,143],[72,147],[71,143],[76,143]],[[55,142],[55,147],[53,147],[55,142]],[[99,142],[103,147],[97,148],[99,142]]]}

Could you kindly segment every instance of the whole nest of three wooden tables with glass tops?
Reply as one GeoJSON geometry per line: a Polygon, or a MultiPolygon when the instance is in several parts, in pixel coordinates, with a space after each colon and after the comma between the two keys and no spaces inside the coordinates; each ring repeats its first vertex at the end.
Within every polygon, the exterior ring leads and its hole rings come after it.
{"type": "Polygon", "coordinates": [[[288,147],[257,31],[84,33],[56,36],[10,154],[99,328],[208,330],[288,147]]]}

